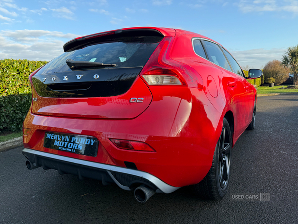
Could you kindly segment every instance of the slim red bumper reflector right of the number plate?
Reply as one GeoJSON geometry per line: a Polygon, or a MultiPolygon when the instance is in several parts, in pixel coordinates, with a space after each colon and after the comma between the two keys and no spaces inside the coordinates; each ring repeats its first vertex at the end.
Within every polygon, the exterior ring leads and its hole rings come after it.
{"type": "Polygon", "coordinates": [[[128,141],[128,140],[120,140],[120,139],[111,139],[110,141],[120,149],[126,150],[135,150],[135,151],[145,151],[145,152],[156,152],[152,149],[148,144],[140,141],[128,141]]]}

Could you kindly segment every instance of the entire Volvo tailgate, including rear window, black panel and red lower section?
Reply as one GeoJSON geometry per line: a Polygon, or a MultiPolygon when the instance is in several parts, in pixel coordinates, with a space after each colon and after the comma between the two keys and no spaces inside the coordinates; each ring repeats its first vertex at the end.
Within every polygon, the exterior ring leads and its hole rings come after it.
{"type": "Polygon", "coordinates": [[[135,29],[75,41],[72,49],[32,76],[32,113],[105,119],[138,116],[152,100],[139,73],[163,38],[157,30],[135,29]],[[66,59],[113,66],[75,68],[66,59]]]}

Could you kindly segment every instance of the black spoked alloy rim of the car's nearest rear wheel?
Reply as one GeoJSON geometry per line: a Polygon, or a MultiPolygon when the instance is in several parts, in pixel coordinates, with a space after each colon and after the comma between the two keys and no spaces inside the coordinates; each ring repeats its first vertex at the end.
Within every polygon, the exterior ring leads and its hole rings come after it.
{"type": "Polygon", "coordinates": [[[224,127],[219,145],[219,181],[221,188],[224,188],[227,184],[230,173],[230,150],[231,142],[229,133],[224,127]]]}

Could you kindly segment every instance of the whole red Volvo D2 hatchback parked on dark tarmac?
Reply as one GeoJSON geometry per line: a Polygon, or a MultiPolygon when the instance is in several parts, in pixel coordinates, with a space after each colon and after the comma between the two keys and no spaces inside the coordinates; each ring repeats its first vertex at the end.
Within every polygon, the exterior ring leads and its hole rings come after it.
{"type": "MultiPolygon", "coordinates": [[[[231,152],[255,128],[256,89],[217,42],[136,27],[79,37],[29,77],[28,169],[116,183],[139,202],[192,185],[221,199],[231,152]]],[[[250,69],[248,79],[262,71],[250,69]]]]}

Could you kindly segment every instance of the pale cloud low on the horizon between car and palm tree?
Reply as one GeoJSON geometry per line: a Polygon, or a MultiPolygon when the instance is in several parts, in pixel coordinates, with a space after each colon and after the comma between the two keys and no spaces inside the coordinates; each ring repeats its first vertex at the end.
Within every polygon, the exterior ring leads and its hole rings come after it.
{"type": "Polygon", "coordinates": [[[249,65],[253,68],[263,68],[267,62],[272,60],[281,60],[287,49],[273,48],[266,50],[264,48],[251,49],[245,51],[230,51],[237,62],[242,65],[249,65]]]}

